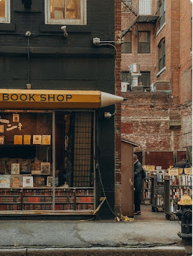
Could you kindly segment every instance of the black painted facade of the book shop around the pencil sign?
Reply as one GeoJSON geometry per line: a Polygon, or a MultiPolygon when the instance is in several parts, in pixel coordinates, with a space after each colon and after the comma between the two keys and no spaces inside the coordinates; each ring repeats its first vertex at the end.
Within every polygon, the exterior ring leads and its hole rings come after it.
{"type": "MultiPolygon", "coordinates": [[[[114,55],[109,46],[95,46],[94,37],[114,41],[114,2],[87,1],[87,24],[45,24],[45,1],[32,0],[30,9],[22,1],[11,0],[11,23],[0,24],[0,88],[27,89],[89,89],[115,94],[114,55]],[[25,33],[31,32],[30,37],[25,33]]],[[[114,209],[115,148],[114,118],[104,119],[96,111],[96,162],[99,162],[108,201],[114,209]]],[[[97,204],[103,196],[97,176],[97,204]]],[[[112,217],[105,203],[99,216],[112,217]]]]}

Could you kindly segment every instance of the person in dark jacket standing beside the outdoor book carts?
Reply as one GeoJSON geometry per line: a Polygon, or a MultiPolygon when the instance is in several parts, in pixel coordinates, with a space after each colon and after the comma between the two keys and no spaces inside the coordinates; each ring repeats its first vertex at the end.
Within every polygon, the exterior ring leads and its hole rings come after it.
{"type": "Polygon", "coordinates": [[[142,188],[142,165],[138,160],[137,155],[133,155],[134,160],[134,215],[141,214],[141,188],[142,188]]]}

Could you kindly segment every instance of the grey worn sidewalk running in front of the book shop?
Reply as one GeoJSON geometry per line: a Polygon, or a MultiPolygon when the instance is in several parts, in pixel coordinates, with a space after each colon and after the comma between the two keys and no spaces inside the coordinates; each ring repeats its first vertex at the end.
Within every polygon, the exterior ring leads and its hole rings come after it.
{"type": "MultiPolygon", "coordinates": [[[[11,252],[17,252],[20,256],[44,255],[43,251],[42,254],[30,254],[37,250],[54,250],[54,253],[45,255],[60,255],[56,251],[79,249],[84,256],[87,254],[83,254],[83,249],[91,250],[96,247],[97,252],[107,248],[143,251],[155,248],[164,251],[168,248],[168,252],[171,249],[176,250],[175,254],[162,255],[191,255],[191,246],[184,246],[177,235],[179,231],[179,222],[168,221],[163,212],[153,213],[150,205],[142,205],[141,215],[135,216],[133,222],[0,221],[0,255],[17,255],[11,252]]],[[[140,251],[138,253],[136,255],[141,254],[140,251]]],[[[100,255],[103,255],[102,251],[100,255]]],[[[104,255],[109,254],[106,252],[104,255]]],[[[121,255],[120,252],[118,255],[121,255]]]]}

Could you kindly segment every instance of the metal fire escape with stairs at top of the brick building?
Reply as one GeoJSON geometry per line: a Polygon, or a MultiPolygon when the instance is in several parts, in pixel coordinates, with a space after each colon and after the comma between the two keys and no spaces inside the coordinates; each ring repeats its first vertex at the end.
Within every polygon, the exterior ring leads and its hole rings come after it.
{"type": "Polygon", "coordinates": [[[152,0],[138,0],[137,4],[136,4],[136,1],[133,1],[133,5],[132,5],[132,0],[121,0],[121,1],[122,1],[122,6],[125,7],[127,11],[132,12],[133,15],[136,16],[136,19],[131,24],[128,25],[127,29],[122,31],[122,37],[125,34],[127,34],[128,30],[130,30],[130,28],[133,25],[135,25],[137,22],[156,23],[156,20],[158,19],[159,15],[157,12],[156,14],[152,14],[152,0]]]}

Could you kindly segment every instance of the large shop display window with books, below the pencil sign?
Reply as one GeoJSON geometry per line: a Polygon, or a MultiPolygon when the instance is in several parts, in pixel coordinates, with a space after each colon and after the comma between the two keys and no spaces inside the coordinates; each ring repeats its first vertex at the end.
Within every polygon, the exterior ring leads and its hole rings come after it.
{"type": "Polygon", "coordinates": [[[94,210],[94,112],[0,113],[0,211],[94,210]]]}

